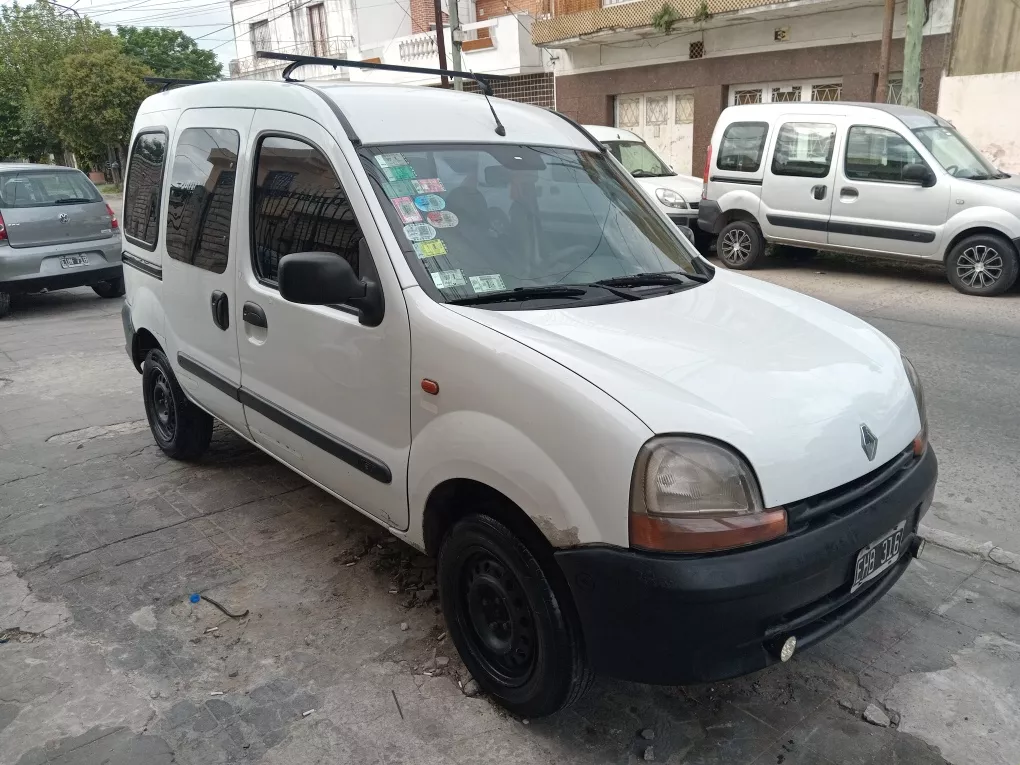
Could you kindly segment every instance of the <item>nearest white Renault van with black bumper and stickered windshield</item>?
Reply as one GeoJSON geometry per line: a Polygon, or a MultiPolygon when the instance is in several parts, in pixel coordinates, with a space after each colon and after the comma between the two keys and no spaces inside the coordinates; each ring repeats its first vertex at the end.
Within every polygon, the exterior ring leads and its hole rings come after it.
{"type": "Polygon", "coordinates": [[[861,614],[935,486],[909,362],[714,269],[568,119],[492,107],[147,99],[123,323],[156,443],[198,459],[215,417],[436,556],[465,664],[528,717],[593,671],[730,677],[861,614]]]}

